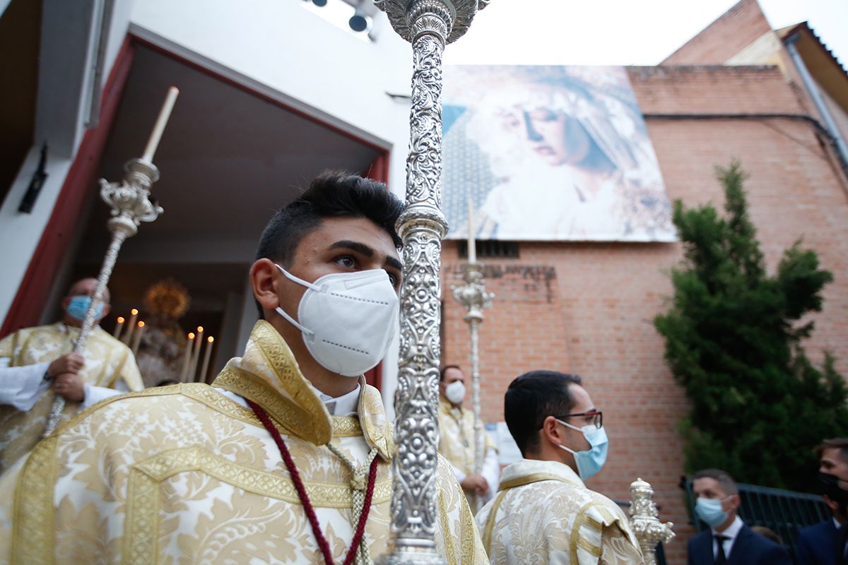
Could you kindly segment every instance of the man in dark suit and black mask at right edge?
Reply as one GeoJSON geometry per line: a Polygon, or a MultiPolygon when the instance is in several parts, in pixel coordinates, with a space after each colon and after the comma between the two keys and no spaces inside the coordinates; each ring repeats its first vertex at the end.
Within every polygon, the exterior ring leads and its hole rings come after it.
{"type": "Polygon", "coordinates": [[[818,477],[824,486],[824,501],[833,518],[817,523],[798,533],[795,562],[798,565],[841,565],[845,555],[845,529],[848,516],[848,438],[824,440],[816,448],[818,477]],[[841,551],[840,551],[841,550],[841,551]]]}

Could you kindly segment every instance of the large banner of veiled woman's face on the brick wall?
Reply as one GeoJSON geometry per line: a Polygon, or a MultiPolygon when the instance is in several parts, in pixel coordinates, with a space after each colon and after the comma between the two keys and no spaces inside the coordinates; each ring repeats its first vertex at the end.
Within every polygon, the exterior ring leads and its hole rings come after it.
{"type": "Polygon", "coordinates": [[[446,66],[449,239],[676,241],[622,67],[446,66]]]}

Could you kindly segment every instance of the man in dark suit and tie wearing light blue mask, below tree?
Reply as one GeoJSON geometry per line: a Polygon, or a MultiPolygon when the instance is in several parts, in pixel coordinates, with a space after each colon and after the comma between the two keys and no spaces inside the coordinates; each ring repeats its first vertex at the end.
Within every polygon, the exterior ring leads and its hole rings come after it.
{"type": "Polygon", "coordinates": [[[729,474],[719,469],[695,473],[695,513],[710,529],[689,540],[689,565],[792,565],[778,546],[745,525],[739,512],[739,489],[729,474]]]}

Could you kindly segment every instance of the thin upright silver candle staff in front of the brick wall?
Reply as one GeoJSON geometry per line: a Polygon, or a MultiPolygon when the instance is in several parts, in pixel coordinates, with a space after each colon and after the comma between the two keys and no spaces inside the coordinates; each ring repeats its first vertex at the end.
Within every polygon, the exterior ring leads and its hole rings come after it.
{"type": "MultiPolygon", "coordinates": [[[[460,302],[468,313],[465,320],[468,330],[471,332],[471,410],[474,413],[474,473],[483,472],[483,418],[480,409],[480,347],[478,329],[483,324],[483,308],[492,305],[494,294],[486,292],[483,284],[483,265],[480,263],[466,263],[465,274],[462,276],[465,285],[454,286],[454,298],[460,302]]],[[[477,508],[480,510],[481,500],[475,497],[477,508]]]]}

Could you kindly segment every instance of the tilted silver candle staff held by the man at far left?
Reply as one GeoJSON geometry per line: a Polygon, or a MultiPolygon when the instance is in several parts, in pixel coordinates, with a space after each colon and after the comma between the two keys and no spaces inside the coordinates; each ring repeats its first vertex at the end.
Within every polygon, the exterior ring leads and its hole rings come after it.
{"type": "MultiPolygon", "coordinates": [[[[106,290],[109,277],[112,276],[120,246],[127,237],[136,235],[139,224],[152,222],[162,213],[162,208],[150,202],[149,199],[150,187],[159,180],[159,169],[156,169],[153,163],[142,161],[142,159],[131,159],[124,165],[124,170],[126,170],[126,176],[120,183],[100,179],[100,197],[112,208],[112,218],[106,224],[112,234],[112,241],[103,258],[103,266],[100,267],[98,285],[94,290],[92,303],[86,310],[85,319],[82,320],[80,337],[74,346],[75,353],[82,354],[86,348],[86,341],[92,333],[98,305],[103,302],[103,291],[106,290]]],[[[53,398],[53,407],[50,408],[42,437],[53,434],[53,430],[59,425],[63,410],[64,396],[56,395],[53,398]]]]}

